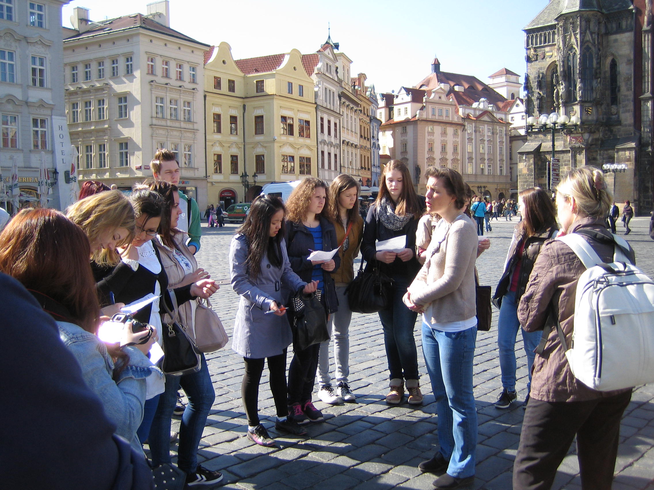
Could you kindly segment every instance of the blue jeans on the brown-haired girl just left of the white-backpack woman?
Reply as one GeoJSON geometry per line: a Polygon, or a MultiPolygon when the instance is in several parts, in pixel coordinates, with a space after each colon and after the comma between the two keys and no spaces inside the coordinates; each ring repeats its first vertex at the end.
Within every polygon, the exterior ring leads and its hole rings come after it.
{"type": "Polygon", "coordinates": [[[500,316],[497,320],[497,345],[500,348],[500,369],[502,370],[502,386],[509,391],[515,391],[515,336],[518,330],[523,332],[523,342],[527,355],[527,370],[529,380],[527,382],[527,394],[531,388],[531,368],[534,365],[536,353],[542,331],[525,332],[520,328],[518,320],[518,305],[515,302],[515,291],[508,291],[502,297],[500,316]]]}

